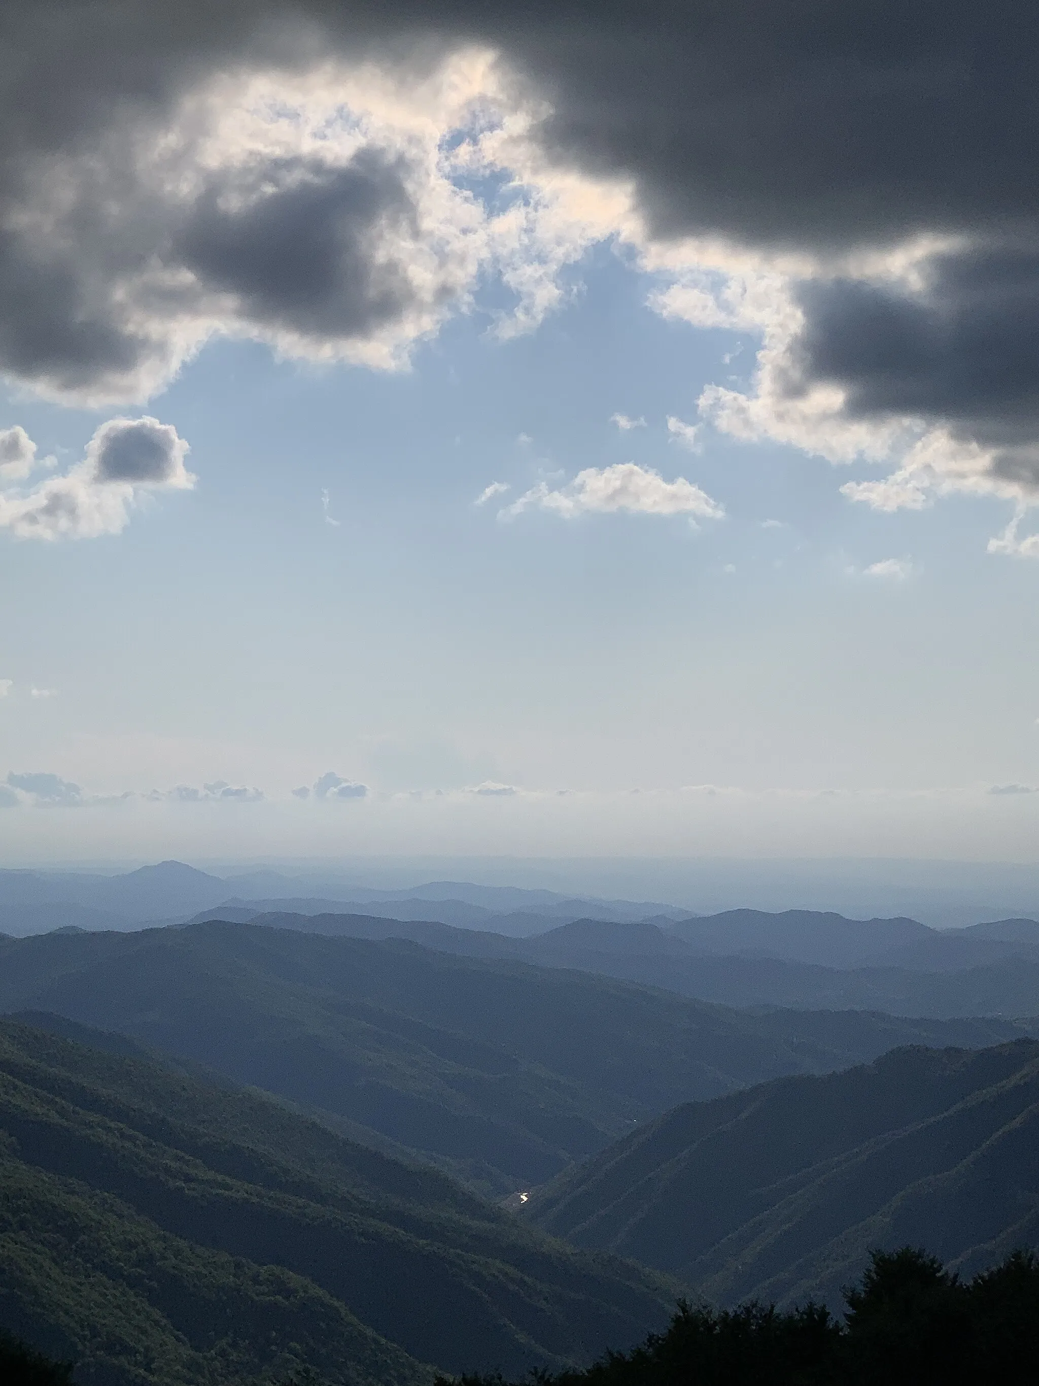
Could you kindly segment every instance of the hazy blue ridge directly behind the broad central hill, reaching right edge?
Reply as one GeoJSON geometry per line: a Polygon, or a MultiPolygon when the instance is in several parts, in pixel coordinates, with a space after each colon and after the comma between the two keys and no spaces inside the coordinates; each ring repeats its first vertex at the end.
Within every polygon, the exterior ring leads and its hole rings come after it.
{"type": "Polygon", "coordinates": [[[1039,923],[1031,919],[935,930],[913,919],[730,911],[679,922],[576,919],[517,938],[371,915],[256,913],[251,905],[198,916],[213,918],[338,937],[410,938],[463,956],[569,967],[727,1006],[931,1019],[1039,1015],[1039,923]]]}

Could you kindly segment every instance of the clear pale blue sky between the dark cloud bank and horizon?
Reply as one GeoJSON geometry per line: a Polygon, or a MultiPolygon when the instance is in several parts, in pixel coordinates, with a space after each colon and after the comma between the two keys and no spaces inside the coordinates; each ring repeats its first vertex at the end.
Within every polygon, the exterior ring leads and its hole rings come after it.
{"type": "Polygon", "coordinates": [[[11,862],[1035,857],[1036,567],[989,552],[1017,492],[953,457],[924,499],[856,502],[923,475],[912,444],[827,460],[774,401],[738,437],[704,392],[767,403],[767,315],[668,312],[689,258],[582,236],[522,330],[513,261],[392,369],[217,324],[103,403],[8,376],[0,431],[53,459],[11,495],[107,420],[176,430],[195,478],[145,478],[118,532],[0,529],[11,862]],[[659,503],[585,505],[623,464],[659,503]]]}

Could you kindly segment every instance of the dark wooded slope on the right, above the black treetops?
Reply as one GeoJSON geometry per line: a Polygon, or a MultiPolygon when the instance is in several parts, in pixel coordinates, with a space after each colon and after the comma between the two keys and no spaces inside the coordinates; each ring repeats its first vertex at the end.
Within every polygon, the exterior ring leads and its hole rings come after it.
{"type": "Polygon", "coordinates": [[[876,1246],[977,1270],[1039,1246],[1039,1044],[898,1049],[690,1103],[536,1191],[525,1213],[723,1304],[837,1303],[876,1246]]]}

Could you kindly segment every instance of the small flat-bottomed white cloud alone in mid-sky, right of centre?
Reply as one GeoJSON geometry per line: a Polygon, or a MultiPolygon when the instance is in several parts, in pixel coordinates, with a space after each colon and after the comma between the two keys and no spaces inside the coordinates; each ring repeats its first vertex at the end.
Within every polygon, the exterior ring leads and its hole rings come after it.
{"type": "Polygon", "coordinates": [[[707,520],[718,520],[723,507],[707,492],[684,477],[665,481],[658,471],[639,467],[633,462],[621,462],[612,467],[586,467],[569,485],[551,491],[542,481],[526,491],[511,506],[499,513],[500,518],[511,520],[524,510],[550,510],[567,520],[579,514],[687,514],[707,520]]]}

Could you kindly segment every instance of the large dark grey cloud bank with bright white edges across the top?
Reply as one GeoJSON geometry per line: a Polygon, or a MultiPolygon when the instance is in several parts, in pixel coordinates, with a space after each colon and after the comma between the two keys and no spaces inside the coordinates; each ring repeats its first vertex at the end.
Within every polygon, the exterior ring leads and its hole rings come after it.
{"type": "Polygon", "coordinates": [[[51,0],[0,37],[10,378],[143,399],[213,333],[393,366],[489,272],[538,322],[612,237],[762,340],[716,427],[887,464],[846,488],[878,509],[1039,499],[1024,0],[51,0]]]}

